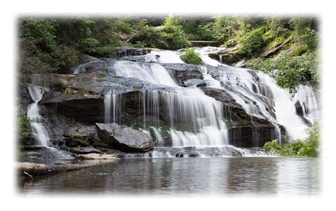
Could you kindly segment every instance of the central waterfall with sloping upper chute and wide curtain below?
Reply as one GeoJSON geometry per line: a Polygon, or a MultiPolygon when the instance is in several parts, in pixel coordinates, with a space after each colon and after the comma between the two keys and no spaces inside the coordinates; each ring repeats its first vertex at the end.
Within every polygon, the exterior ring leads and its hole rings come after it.
{"type": "MultiPolygon", "coordinates": [[[[159,119],[161,109],[159,105],[162,102],[164,107],[162,109],[167,112],[169,120],[167,132],[171,136],[173,147],[228,144],[222,104],[214,98],[206,96],[198,88],[178,86],[167,69],[160,64],[118,61],[113,68],[117,76],[133,77],[150,84],[169,86],[169,91],[140,91],[140,106],[145,127],[147,115],[159,119]]],[[[159,122],[154,123],[159,127],[159,122]]]]}

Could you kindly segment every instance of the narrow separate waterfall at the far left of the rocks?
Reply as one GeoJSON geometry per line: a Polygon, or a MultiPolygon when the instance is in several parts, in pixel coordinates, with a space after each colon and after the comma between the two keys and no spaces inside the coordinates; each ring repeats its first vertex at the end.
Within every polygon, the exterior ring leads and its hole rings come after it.
{"type": "Polygon", "coordinates": [[[33,122],[31,122],[31,127],[33,130],[35,144],[47,147],[50,141],[50,135],[48,132],[49,128],[40,115],[38,108],[38,102],[42,99],[44,91],[39,86],[28,86],[28,91],[30,97],[34,101],[34,103],[28,105],[27,115],[33,120],[33,122]]]}

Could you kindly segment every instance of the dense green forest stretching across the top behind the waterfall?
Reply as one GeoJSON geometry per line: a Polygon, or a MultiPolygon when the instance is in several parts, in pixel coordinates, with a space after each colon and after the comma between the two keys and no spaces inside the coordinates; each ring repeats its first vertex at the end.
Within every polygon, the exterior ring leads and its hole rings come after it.
{"type": "MultiPolygon", "coordinates": [[[[223,63],[243,62],[244,67],[274,76],[283,88],[310,84],[316,89],[319,81],[315,18],[35,17],[21,18],[18,32],[19,69],[23,74],[60,72],[88,56],[115,57],[118,46],[178,50],[192,47],[191,40],[206,40],[228,48],[223,63]]],[[[189,63],[198,64],[200,60],[189,53],[189,63]]]]}

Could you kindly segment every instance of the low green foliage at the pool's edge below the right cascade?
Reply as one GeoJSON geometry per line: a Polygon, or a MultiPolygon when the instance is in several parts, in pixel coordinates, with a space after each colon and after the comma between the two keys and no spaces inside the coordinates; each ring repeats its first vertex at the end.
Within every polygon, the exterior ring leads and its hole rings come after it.
{"type": "Polygon", "coordinates": [[[308,130],[308,140],[303,142],[297,140],[295,142],[286,143],[283,145],[278,144],[278,140],[266,142],[264,149],[266,151],[276,152],[280,156],[318,156],[320,154],[320,127],[317,123],[308,130]]]}

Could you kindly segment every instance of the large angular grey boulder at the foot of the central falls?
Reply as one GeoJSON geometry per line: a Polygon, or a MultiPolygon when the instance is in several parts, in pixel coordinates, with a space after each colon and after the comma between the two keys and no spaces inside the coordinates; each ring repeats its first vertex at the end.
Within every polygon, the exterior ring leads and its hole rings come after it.
{"type": "Polygon", "coordinates": [[[98,136],[102,142],[123,152],[148,152],[154,144],[143,132],[115,123],[96,123],[98,136]]]}

